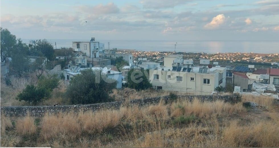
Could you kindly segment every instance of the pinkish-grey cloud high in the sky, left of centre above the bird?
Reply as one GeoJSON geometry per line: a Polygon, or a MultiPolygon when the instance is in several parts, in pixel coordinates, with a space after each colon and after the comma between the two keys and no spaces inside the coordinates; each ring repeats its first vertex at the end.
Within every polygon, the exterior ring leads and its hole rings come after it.
{"type": "Polygon", "coordinates": [[[89,13],[93,15],[106,15],[106,14],[112,14],[112,13],[119,13],[120,9],[115,5],[114,3],[108,3],[106,5],[99,4],[96,6],[86,6],[81,5],[78,7],[79,11],[82,11],[84,13],[89,13]]]}

